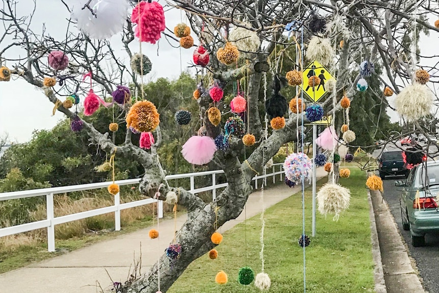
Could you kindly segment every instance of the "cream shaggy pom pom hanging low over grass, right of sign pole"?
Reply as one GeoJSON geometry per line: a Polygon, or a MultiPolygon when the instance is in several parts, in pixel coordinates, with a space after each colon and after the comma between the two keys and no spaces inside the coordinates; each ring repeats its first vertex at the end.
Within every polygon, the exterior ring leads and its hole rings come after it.
{"type": "Polygon", "coordinates": [[[317,203],[320,214],[334,214],[338,221],[340,213],[349,207],[350,191],[340,184],[326,183],[317,193],[317,203]]]}

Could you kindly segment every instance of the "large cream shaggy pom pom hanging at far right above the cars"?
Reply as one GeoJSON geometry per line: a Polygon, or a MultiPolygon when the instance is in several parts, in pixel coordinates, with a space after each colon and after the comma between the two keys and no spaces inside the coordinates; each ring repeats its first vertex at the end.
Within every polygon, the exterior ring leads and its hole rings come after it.
{"type": "Polygon", "coordinates": [[[418,83],[406,86],[395,99],[396,112],[412,121],[429,115],[432,106],[433,92],[418,83]]]}

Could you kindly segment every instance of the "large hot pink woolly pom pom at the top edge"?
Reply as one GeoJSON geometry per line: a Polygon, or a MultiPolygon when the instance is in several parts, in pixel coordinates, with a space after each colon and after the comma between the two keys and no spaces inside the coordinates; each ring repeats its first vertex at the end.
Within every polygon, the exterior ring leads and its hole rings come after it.
{"type": "Polygon", "coordinates": [[[131,14],[131,22],[136,23],[135,36],[141,42],[155,44],[166,29],[163,7],[157,2],[141,1],[131,14]]]}

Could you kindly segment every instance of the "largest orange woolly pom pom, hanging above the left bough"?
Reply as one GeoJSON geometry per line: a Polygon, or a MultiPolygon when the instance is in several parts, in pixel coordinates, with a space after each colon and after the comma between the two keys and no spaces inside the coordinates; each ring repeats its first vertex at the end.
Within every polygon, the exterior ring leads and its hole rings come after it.
{"type": "Polygon", "coordinates": [[[126,128],[132,126],[140,132],[151,132],[160,123],[160,115],[155,105],[147,100],[137,101],[126,115],[126,128]]]}

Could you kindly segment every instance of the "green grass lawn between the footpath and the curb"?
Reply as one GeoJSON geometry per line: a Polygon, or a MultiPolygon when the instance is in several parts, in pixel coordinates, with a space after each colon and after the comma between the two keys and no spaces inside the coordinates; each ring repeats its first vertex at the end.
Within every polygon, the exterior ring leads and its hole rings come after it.
{"type": "MultiPolygon", "coordinates": [[[[325,182],[326,178],[320,180],[317,189],[325,182]]],[[[317,214],[317,235],[310,237],[311,245],[306,248],[306,286],[310,293],[374,291],[366,174],[351,169],[350,178],[341,178],[340,183],[351,191],[350,207],[338,222],[317,214]]],[[[306,234],[311,236],[310,188],[305,192],[305,205],[306,234]]],[[[302,231],[300,194],[268,208],[265,220],[265,272],[271,278],[267,292],[303,292],[303,248],[297,244],[302,231]]],[[[260,228],[258,215],[225,232],[216,248],[218,258],[211,260],[204,255],[191,263],[168,292],[260,292],[253,283],[244,286],[237,281],[238,270],[245,265],[255,274],[261,271],[260,228]],[[214,281],[221,270],[229,276],[226,285],[214,281]]]]}

